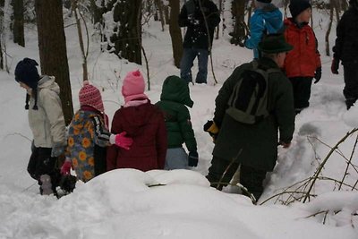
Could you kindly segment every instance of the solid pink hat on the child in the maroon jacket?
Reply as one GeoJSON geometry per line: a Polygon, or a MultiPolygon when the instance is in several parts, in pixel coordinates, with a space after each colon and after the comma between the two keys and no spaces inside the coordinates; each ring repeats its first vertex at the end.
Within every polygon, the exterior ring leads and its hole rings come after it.
{"type": "Polygon", "coordinates": [[[122,95],[124,102],[132,101],[136,98],[148,98],[144,94],[145,84],[144,78],[139,70],[127,73],[122,86],[122,95]]]}

